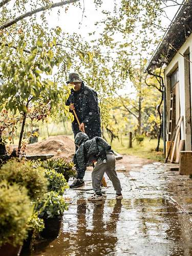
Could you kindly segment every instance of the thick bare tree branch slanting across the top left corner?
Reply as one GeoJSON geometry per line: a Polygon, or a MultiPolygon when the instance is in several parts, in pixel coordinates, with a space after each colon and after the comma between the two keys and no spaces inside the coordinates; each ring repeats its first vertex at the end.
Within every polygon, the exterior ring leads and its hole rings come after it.
{"type": "Polygon", "coordinates": [[[60,7],[60,6],[63,6],[63,5],[68,5],[68,4],[72,4],[72,3],[75,3],[75,2],[79,2],[79,1],[80,0],[66,0],[66,1],[58,2],[58,3],[52,4],[52,5],[47,5],[47,6],[44,6],[44,7],[40,7],[38,9],[30,11],[30,12],[26,12],[26,13],[16,17],[15,19],[11,20],[10,22],[7,22],[7,23],[3,24],[2,26],[0,26],[0,30],[8,28],[8,27],[12,26],[13,24],[19,22],[19,20],[30,17],[30,16],[38,13],[38,12],[46,11],[48,9],[53,9],[55,7],[60,7]]]}

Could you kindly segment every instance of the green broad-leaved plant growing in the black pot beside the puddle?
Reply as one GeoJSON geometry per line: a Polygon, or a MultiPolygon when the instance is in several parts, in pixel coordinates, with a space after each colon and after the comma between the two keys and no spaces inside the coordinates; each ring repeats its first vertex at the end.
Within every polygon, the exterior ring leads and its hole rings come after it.
{"type": "Polygon", "coordinates": [[[36,206],[40,218],[60,217],[68,209],[65,199],[55,191],[50,191],[36,206]]]}

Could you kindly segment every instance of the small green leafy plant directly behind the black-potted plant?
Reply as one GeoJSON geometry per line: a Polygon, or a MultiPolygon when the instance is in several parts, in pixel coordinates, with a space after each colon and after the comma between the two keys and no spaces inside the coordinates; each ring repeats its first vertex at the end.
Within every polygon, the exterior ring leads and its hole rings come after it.
{"type": "Polygon", "coordinates": [[[62,195],[68,184],[65,177],[61,173],[57,173],[54,169],[48,169],[45,172],[45,177],[48,179],[48,191],[55,191],[59,195],[62,195]]]}

